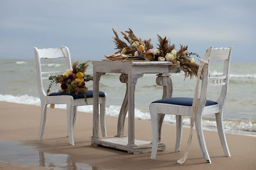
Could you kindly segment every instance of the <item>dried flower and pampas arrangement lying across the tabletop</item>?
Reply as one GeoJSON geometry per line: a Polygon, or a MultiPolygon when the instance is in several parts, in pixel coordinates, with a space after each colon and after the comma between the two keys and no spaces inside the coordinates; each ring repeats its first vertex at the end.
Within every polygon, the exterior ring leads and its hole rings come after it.
{"type": "Polygon", "coordinates": [[[158,47],[154,49],[151,44],[151,39],[141,40],[137,38],[134,32],[129,29],[129,31],[121,32],[124,39],[129,43],[125,43],[119,37],[116,31],[113,29],[115,34],[114,43],[116,45],[116,53],[112,55],[105,55],[109,60],[151,60],[151,61],[170,61],[173,63],[173,67],[180,65],[180,68],[185,73],[185,78],[190,76],[196,76],[198,71],[198,64],[195,63],[191,55],[199,57],[197,53],[189,52],[188,46],[180,45],[180,50],[175,48],[175,45],[171,45],[170,40],[162,38],[157,34],[159,43],[158,47]],[[127,33],[127,34],[126,34],[127,33]]]}

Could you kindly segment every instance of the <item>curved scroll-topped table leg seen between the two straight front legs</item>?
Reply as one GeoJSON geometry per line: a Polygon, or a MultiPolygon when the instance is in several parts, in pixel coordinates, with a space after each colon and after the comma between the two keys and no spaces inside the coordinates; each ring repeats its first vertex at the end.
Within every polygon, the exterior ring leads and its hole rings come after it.
{"type": "Polygon", "coordinates": [[[124,137],[124,122],[125,122],[125,117],[127,115],[128,111],[128,75],[127,74],[121,74],[120,75],[120,81],[122,83],[126,84],[126,92],[125,92],[125,97],[124,101],[122,103],[122,107],[120,109],[120,113],[118,116],[118,124],[117,124],[117,134],[115,137],[124,137]]]}

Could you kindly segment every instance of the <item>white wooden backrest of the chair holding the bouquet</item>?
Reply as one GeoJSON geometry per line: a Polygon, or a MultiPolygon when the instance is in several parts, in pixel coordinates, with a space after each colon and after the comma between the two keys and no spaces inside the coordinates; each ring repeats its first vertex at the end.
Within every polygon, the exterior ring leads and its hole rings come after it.
{"type": "Polygon", "coordinates": [[[46,96],[44,91],[43,79],[48,79],[47,76],[52,74],[62,74],[63,71],[46,71],[42,72],[41,59],[65,59],[67,62],[67,69],[71,69],[70,52],[67,46],[61,46],[61,48],[42,48],[38,49],[34,47],[35,60],[36,60],[36,76],[37,87],[40,95],[40,99],[46,96]]]}

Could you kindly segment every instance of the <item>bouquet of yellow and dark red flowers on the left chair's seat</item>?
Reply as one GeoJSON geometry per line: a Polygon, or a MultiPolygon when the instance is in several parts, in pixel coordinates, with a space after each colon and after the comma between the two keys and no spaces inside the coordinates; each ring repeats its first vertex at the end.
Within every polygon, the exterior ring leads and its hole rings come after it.
{"type": "Polygon", "coordinates": [[[84,101],[87,102],[86,93],[88,92],[88,88],[85,82],[93,80],[90,74],[85,74],[88,66],[88,62],[78,64],[77,61],[73,63],[72,69],[68,69],[65,73],[57,76],[49,76],[50,84],[47,89],[47,96],[49,95],[52,85],[54,83],[60,83],[61,92],[76,95],[81,93],[84,96],[84,101]]]}

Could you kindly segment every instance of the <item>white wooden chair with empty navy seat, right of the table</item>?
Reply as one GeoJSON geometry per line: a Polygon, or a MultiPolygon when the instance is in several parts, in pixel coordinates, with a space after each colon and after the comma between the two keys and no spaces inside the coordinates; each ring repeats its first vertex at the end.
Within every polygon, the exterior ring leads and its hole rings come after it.
{"type": "MultiPolygon", "coordinates": [[[[230,157],[230,152],[228,150],[227,141],[225,138],[225,132],[223,129],[223,106],[225,103],[225,97],[227,96],[228,89],[228,76],[229,76],[229,65],[230,56],[232,53],[232,46],[230,48],[208,48],[205,53],[205,60],[223,60],[223,75],[222,76],[209,76],[209,64],[205,64],[202,71],[202,85],[200,97],[198,99],[198,104],[195,112],[195,127],[198,136],[198,141],[204,159],[206,162],[211,163],[211,159],[207,152],[205,145],[204,134],[202,131],[202,117],[204,115],[209,115],[215,113],[216,122],[218,127],[218,134],[220,136],[221,145],[225,156],[230,157]],[[208,86],[222,86],[221,94],[217,101],[207,100],[207,87],[208,86]]],[[[222,70],[221,70],[222,71],[222,70]]],[[[218,72],[221,72],[218,71],[218,72]]],[[[200,90],[199,90],[200,91],[200,90]]],[[[191,117],[193,98],[189,97],[173,97],[168,99],[161,99],[154,101],[150,104],[150,117],[152,123],[152,153],[151,159],[156,158],[157,153],[157,143],[159,141],[159,123],[157,117],[159,114],[170,114],[176,115],[176,145],[175,152],[179,152],[180,142],[182,136],[182,116],[191,117]]]]}

